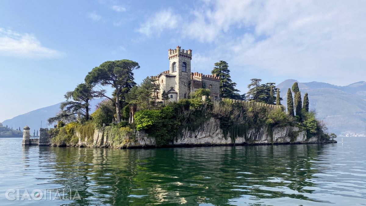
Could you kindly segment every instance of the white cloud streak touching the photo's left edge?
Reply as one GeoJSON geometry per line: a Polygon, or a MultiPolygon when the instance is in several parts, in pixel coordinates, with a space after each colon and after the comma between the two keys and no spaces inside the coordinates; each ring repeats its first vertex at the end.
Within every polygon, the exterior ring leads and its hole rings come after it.
{"type": "Polygon", "coordinates": [[[0,55],[26,58],[58,58],[63,53],[41,45],[33,34],[0,28],[0,55]]]}

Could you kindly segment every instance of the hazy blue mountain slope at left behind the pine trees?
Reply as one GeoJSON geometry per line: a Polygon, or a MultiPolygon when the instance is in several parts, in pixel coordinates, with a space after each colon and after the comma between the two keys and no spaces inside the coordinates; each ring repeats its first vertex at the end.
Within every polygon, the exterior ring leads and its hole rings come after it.
{"type": "MultiPolygon", "coordinates": [[[[94,112],[95,105],[101,102],[101,99],[94,99],[90,102],[90,114],[94,112]]],[[[3,125],[8,125],[8,127],[12,127],[14,129],[23,128],[28,125],[30,128],[30,133],[33,134],[34,130],[39,130],[41,128],[46,128],[46,122],[49,117],[54,117],[57,112],[60,111],[60,103],[54,104],[52,106],[43,107],[37,110],[30,111],[25,114],[18,115],[14,118],[7,119],[3,121],[3,125]]],[[[52,125],[53,126],[53,125],[52,125]]],[[[50,127],[50,126],[49,126],[50,127]]],[[[48,128],[49,128],[48,127],[48,128]]]]}

